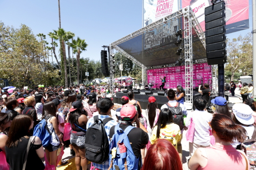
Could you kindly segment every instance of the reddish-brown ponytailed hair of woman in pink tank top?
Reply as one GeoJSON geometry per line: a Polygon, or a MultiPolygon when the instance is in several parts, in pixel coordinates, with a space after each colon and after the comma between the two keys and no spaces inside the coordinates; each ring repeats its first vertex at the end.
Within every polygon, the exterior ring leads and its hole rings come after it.
{"type": "Polygon", "coordinates": [[[211,121],[211,128],[216,132],[219,139],[225,142],[237,141],[243,143],[246,139],[246,130],[235,124],[230,117],[223,114],[214,114],[211,121]]]}

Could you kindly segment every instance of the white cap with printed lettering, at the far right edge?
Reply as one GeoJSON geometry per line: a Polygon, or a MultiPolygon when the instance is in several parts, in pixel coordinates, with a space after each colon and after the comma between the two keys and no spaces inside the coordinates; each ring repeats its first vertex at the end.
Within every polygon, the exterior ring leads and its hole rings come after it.
{"type": "Polygon", "coordinates": [[[254,123],[254,118],[252,117],[253,110],[249,105],[236,103],[232,107],[232,111],[236,116],[236,119],[242,124],[250,125],[254,123]]]}

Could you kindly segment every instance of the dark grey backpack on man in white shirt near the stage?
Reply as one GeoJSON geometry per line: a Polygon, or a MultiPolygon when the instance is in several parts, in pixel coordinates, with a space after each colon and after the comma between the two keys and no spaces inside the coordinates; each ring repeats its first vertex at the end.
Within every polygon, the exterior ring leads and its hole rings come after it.
{"type": "Polygon", "coordinates": [[[173,114],[173,122],[175,124],[178,124],[180,126],[180,130],[183,129],[183,112],[182,108],[180,107],[180,102],[177,102],[176,106],[172,107],[169,106],[169,103],[165,103],[168,106],[168,109],[172,112],[173,114]]]}

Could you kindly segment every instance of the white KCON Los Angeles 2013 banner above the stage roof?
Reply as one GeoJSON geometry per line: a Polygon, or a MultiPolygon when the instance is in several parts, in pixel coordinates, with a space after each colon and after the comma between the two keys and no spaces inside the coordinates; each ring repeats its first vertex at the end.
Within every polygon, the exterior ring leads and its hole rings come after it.
{"type": "Polygon", "coordinates": [[[144,0],[144,26],[178,11],[178,0],[144,0]]]}

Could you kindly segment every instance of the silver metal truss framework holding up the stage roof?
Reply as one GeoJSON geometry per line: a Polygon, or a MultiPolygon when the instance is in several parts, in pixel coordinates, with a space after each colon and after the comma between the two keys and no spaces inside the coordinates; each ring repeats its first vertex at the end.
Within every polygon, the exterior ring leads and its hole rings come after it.
{"type": "MultiPolygon", "coordinates": [[[[200,59],[200,60],[194,60],[193,62],[193,50],[192,50],[192,27],[194,28],[195,32],[197,33],[200,41],[202,42],[204,48],[206,48],[206,42],[205,42],[205,35],[204,32],[202,31],[202,28],[200,27],[200,24],[190,6],[187,6],[183,9],[180,9],[176,11],[175,13],[166,16],[156,22],[153,22],[152,24],[149,24],[146,27],[143,27],[134,33],[131,33],[113,43],[111,43],[110,46],[110,53],[114,53],[113,49],[124,55],[125,57],[129,58],[132,60],[135,64],[138,64],[142,68],[144,68],[144,80],[147,82],[147,70],[148,69],[154,69],[154,68],[163,68],[165,67],[173,67],[175,64],[167,64],[167,65],[162,65],[162,66],[152,66],[152,67],[146,67],[143,65],[141,62],[136,60],[134,57],[126,53],[124,50],[119,48],[117,45],[121,44],[127,40],[130,40],[134,37],[137,37],[141,34],[147,33],[149,30],[152,30],[156,27],[164,25],[167,21],[173,21],[178,18],[182,18],[184,22],[184,27],[183,27],[183,34],[184,34],[184,60],[185,60],[185,77],[186,77],[186,85],[185,85],[185,90],[186,90],[186,102],[192,103],[193,102],[193,63],[202,63],[206,62],[206,59],[200,59]]],[[[110,62],[110,64],[112,64],[110,62]]],[[[111,65],[110,65],[111,68],[111,65]]],[[[110,69],[110,72],[111,69],[110,69]]],[[[114,89],[114,75],[112,74],[111,78],[111,91],[114,89]]]]}

